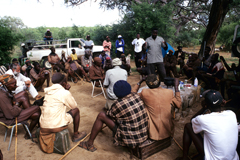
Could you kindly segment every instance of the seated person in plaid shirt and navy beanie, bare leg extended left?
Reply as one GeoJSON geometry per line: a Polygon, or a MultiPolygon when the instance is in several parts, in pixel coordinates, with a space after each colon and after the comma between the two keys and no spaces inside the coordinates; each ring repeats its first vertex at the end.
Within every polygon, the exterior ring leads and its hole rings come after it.
{"type": "Polygon", "coordinates": [[[131,93],[130,84],[123,80],[114,84],[113,92],[118,100],[107,113],[98,114],[89,140],[81,142],[79,147],[95,151],[93,143],[104,123],[113,131],[115,145],[135,148],[147,140],[148,115],[140,96],[131,93]]]}

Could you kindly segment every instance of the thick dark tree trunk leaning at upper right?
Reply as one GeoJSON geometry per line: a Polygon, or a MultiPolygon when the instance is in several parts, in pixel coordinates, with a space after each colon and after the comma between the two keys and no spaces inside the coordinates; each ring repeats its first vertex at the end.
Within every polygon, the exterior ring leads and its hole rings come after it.
{"type": "Polygon", "coordinates": [[[216,38],[220,27],[222,26],[223,20],[229,11],[230,3],[232,3],[232,0],[213,0],[207,29],[202,40],[201,49],[198,53],[200,58],[203,56],[205,41],[206,46],[209,46],[211,48],[210,54],[214,52],[216,38]]]}

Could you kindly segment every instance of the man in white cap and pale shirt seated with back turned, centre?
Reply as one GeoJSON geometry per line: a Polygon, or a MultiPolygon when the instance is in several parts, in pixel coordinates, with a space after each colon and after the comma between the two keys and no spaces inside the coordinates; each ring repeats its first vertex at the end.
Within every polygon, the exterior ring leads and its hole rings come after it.
{"type": "Polygon", "coordinates": [[[107,101],[105,104],[106,109],[110,109],[112,104],[115,102],[117,96],[113,92],[113,86],[115,82],[119,80],[127,81],[127,71],[120,68],[122,61],[119,58],[112,60],[113,69],[109,69],[106,72],[105,80],[103,82],[104,87],[107,87],[107,101]]]}

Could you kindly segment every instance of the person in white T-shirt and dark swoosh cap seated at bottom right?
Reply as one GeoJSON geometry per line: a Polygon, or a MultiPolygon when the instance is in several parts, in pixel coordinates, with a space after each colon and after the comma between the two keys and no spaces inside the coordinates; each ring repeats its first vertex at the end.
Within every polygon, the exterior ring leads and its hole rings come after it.
{"type": "Polygon", "coordinates": [[[193,142],[201,159],[238,160],[238,125],[234,112],[221,110],[223,98],[218,91],[210,90],[203,94],[203,107],[211,113],[196,114],[191,123],[187,123],[183,133],[183,157],[188,160],[188,151],[193,142]],[[204,138],[201,136],[204,133],[204,138]]]}

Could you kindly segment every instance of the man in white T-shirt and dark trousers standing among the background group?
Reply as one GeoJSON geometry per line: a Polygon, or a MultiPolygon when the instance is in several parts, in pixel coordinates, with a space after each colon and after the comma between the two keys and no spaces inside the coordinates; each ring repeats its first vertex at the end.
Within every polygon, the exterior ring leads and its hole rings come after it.
{"type": "Polygon", "coordinates": [[[141,67],[141,62],[138,61],[142,58],[142,45],[145,43],[144,39],[140,38],[140,34],[137,34],[137,38],[132,41],[132,45],[134,45],[134,52],[135,52],[135,65],[136,68],[141,67]]]}

